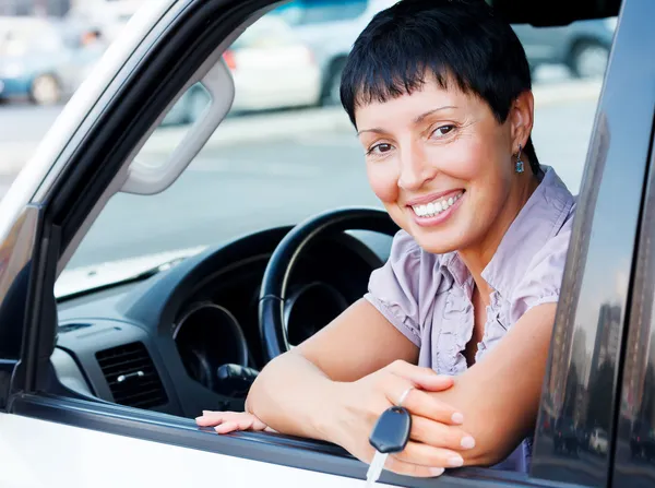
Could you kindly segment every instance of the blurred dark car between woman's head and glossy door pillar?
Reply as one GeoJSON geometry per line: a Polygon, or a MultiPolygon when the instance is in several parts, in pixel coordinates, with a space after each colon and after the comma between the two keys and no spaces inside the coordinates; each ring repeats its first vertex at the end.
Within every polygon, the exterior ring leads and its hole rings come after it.
{"type": "Polygon", "coordinates": [[[514,25],[533,69],[564,64],[576,78],[605,74],[617,19],[594,19],[569,25],[538,27],[514,25]]]}

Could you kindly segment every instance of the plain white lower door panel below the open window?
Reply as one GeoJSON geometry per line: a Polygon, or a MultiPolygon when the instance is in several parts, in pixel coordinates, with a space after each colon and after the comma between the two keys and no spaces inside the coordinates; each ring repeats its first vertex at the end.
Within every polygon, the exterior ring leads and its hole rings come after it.
{"type": "Polygon", "coordinates": [[[362,484],[359,479],[19,415],[0,414],[0,431],[3,487],[360,488],[362,484]],[[53,455],[55,445],[58,455],[53,455]]]}

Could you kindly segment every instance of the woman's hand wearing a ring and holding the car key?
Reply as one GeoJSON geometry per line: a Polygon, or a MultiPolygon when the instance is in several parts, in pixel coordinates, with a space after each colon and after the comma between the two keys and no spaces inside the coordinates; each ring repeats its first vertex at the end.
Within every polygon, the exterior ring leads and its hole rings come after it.
{"type": "Polygon", "coordinates": [[[410,476],[439,476],[445,467],[464,463],[457,451],[473,449],[475,440],[457,425],[463,416],[428,392],[448,390],[452,377],[439,376],[428,368],[394,361],[353,383],[342,383],[341,395],[331,419],[324,425],[330,438],[360,461],[370,463],[374,450],[368,439],[378,417],[403,401],[412,414],[412,431],[405,449],[388,457],[385,468],[410,476]]]}

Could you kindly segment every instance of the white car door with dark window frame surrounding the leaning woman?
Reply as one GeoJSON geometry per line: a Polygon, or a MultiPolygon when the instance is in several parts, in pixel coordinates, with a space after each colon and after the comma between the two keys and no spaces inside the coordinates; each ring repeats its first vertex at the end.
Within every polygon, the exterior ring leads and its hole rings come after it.
{"type": "MultiPolygon", "coordinates": [[[[51,371],[52,287],[78,230],[100,211],[97,203],[124,170],[126,157],[211,47],[264,4],[171,1],[136,19],[131,35],[106,58],[106,71],[72,100],[2,201],[0,255],[8,255],[0,271],[2,486],[361,486],[366,466],[338,448],[269,433],[215,436],[192,419],[74,397],[51,371]]],[[[610,483],[610,455],[553,453],[553,426],[572,418],[569,426],[586,429],[591,419],[608,429],[608,451],[616,447],[615,393],[655,107],[648,92],[655,67],[631,63],[635,43],[655,46],[644,21],[652,8],[644,5],[624,2],[624,27],[596,117],[532,472],[467,468],[443,476],[439,486],[610,483]],[[638,75],[630,76],[633,72],[638,75]]],[[[575,442],[583,438],[576,433],[575,442]]],[[[434,486],[431,479],[390,474],[382,481],[434,486]]]]}

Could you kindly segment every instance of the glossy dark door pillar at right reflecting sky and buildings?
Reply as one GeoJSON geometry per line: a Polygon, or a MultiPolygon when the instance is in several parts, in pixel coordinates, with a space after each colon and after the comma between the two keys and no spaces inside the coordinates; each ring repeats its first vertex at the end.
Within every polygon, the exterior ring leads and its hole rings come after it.
{"type": "Polygon", "coordinates": [[[623,2],[594,124],[537,425],[534,476],[607,486],[655,106],[655,4],[623,2]],[[646,49],[646,50],[644,50],[646,49]]]}

